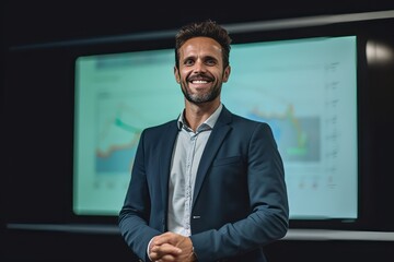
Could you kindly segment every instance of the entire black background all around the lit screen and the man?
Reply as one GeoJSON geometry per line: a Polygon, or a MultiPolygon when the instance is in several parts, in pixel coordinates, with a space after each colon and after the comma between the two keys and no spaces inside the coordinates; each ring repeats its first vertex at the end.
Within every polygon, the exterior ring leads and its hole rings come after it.
{"type": "MultiPolygon", "coordinates": [[[[0,240],[4,240],[0,245],[0,261],[80,261],[83,257],[130,261],[130,251],[113,229],[116,217],[76,217],[70,211],[72,72],[78,55],[172,47],[173,39],[106,44],[94,44],[94,39],[166,32],[195,20],[212,19],[221,24],[269,22],[394,10],[394,2],[63,0],[8,1],[0,8],[0,240]],[[71,230],[73,225],[84,227],[71,230]]],[[[321,34],[356,34],[361,47],[367,40],[374,40],[394,50],[393,17],[235,35],[234,40],[321,34]]],[[[291,222],[291,228],[394,233],[394,62],[368,64],[362,55],[358,59],[360,219],[291,222]]],[[[266,252],[270,262],[348,261],[349,257],[351,261],[392,261],[394,243],[370,239],[289,239],[267,246],[266,252]]]]}

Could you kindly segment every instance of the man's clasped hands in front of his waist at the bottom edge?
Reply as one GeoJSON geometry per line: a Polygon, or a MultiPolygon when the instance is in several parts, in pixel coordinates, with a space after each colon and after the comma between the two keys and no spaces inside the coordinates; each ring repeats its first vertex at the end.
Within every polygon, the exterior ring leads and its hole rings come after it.
{"type": "Polygon", "coordinates": [[[149,257],[159,262],[192,262],[196,261],[190,238],[175,233],[164,233],[152,239],[149,257]]]}

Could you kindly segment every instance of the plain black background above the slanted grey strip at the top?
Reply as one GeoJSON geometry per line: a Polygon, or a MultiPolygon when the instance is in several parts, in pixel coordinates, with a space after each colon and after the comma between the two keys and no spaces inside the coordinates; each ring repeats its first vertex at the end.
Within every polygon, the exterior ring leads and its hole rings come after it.
{"type": "MultiPolygon", "coordinates": [[[[222,24],[393,10],[390,0],[2,1],[8,46],[178,28],[212,19],[222,24]]],[[[389,33],[389,28],[387,33],[389,33]]]]}

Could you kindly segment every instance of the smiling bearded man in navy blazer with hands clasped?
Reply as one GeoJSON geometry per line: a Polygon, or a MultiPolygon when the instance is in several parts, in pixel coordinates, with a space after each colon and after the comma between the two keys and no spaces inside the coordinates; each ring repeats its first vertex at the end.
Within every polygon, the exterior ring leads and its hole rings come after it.
{"type": "Polygon", "coordinates": [[[288,229],[283,165],[267,123],[221,103],[231,38],[212,21],[175,38],[174,75],[185,97],[177,120],[146,129],[119,213],[140,261],[266,261],[288,229]]]}

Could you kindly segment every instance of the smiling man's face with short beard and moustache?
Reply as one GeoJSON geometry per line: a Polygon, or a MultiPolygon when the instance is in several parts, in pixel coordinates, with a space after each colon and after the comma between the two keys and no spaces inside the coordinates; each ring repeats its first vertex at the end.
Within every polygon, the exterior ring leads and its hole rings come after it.
{"type": "Polygon", "coordinates": [[[176,82],[185,98],[194,104],[219,99],[222,83],[230,75],[223,70],[222,49],[209,37],[190,38],[179,48],[179,68],[175,67],[176,82]]]}

